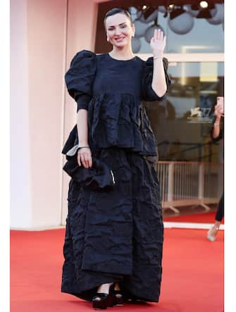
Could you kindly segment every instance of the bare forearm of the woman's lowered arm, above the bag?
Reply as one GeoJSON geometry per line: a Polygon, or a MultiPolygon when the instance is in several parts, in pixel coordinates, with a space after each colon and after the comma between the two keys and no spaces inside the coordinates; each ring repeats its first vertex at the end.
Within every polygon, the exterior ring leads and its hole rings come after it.
{"type": "Polygon", "coordinates": [[[86,109],[80,109],[77,112],[77,134],[79,138],[79,146],[88,146],[89,140],[86,109]]]}

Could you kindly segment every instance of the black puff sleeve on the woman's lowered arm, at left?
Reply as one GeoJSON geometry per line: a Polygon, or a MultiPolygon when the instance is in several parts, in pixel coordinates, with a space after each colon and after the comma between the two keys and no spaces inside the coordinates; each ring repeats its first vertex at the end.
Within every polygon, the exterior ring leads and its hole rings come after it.
{"type": "Polygon", "coordinates": [[[96,54],[82,50],[75,54],[66,72],[66,87],[70,96],[77,102],[77,111],[80,108],[88,109],[92,99],[92,85],[96,72],[96,54]]]}

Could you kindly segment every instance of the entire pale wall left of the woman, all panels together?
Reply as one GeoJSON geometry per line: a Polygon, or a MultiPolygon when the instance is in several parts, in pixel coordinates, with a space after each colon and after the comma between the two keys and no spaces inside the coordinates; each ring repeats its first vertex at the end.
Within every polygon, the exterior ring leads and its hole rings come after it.
{"type": "Polygon", "coordinates": [[[93,50],[96,22],[93,0],[11,0],[13,229],[65,224],[69,179],[61,149],[76,105],[64,74],[77,51],[93,50]]]}

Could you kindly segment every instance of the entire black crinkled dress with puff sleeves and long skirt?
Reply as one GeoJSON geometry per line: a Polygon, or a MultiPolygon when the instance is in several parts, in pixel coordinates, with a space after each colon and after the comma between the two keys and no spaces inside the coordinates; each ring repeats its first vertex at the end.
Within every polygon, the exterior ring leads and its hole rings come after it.
{"type": "MultiPolygon", "coordinates": [[[[163,59],[166,84],[168,61],[163,59]]],[[[80,51],[66,73],[77,109],[88,111],[92,156],[111,168],[112,189],[70,180],[61,291],[91,300],[97,287],[119,282],[125,294],[159,301],[163,220],[154,169],[157,143],[144,101],[160,100],[151,88],[153,58],[119,61],[80,51]]],[[[77,127],[63,154],[77,152],[77,127]]]]}

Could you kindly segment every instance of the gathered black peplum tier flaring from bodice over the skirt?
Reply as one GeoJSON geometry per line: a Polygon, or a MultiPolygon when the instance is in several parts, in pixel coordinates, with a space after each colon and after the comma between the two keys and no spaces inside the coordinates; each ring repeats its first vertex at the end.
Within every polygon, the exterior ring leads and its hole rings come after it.
{"type": "MultiPolygon", "coordinates": [[[[157,156],[157,142],[145,108],[132,94],[99,94],[88,105],[89,145],[94,151],[117,146],[141,155],[157,156]]],[[[63,154],[78,144],[77,128],[63,154]]]]}

